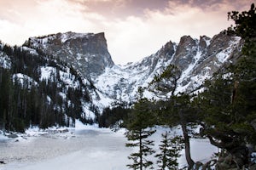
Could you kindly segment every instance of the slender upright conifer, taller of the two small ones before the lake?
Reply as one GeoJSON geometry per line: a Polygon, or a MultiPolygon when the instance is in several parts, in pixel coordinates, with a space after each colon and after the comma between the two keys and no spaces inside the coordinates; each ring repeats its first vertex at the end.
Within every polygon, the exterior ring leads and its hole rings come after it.
{"type": "Polygon", "coordinates": [[[151,102],[148,99],[140,99],[129,115],[130,122],[127,125],[129,131],[126,133],[126,137],[131,142],[127,143],[126,147],[138,148],[138,152],[128,156],[133,161],[132,164],[127,165],[129,168],[140,170],[147,167],[153,168],[153,161],[147,160],[147,156],[155,152],[151,148],[154,142],[148,139],[155,132],[150,128],[154,122],[151,109],[151,102]]]}

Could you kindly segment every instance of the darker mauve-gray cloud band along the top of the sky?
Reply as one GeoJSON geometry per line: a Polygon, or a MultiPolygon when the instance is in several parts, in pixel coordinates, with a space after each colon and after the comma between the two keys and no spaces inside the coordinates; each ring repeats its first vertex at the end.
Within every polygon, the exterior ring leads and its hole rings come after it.
{"type": "MultiPolygon", "coordinates": [[[[172,13],[172,8],[177,6],[190,6],[201,8],[203,11],[218,10],[222,5],[230,6],[230,10],[241,10],[248,0],[67,0],[70,3],[79,3],[84,7],[84,14],[96,12],[111,19],[122,19],[128,16],[143,17],[146,10],[165,11],[172,13]],[[172,4],[172,5],[170,5],[172,4]]],[[[255,0],[251,0],[255,3],[255,0]]],[[[228,12],[228,11],[227,11],[228,12]]]]}

